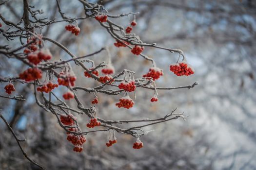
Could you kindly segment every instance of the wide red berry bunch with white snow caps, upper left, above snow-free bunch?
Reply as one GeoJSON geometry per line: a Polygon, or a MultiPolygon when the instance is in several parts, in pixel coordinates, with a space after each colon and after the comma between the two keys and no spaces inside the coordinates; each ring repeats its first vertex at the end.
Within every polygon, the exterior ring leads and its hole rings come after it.
{"type": "Polygon", "coordinates": [[[52,58],[52,54],[48,49],[41,50],[37,53],[30,53],[27,56],[27,59],[30,63],[33,63],[34,65],[38,65],[41,61],[47,61],[52,58]]]}

